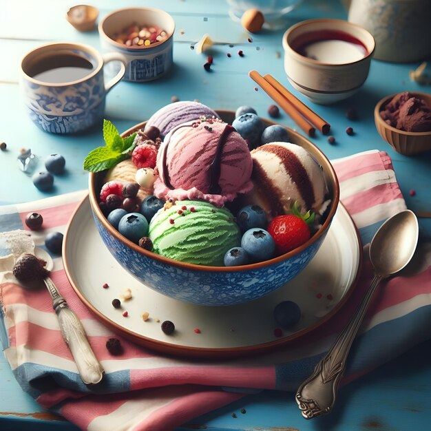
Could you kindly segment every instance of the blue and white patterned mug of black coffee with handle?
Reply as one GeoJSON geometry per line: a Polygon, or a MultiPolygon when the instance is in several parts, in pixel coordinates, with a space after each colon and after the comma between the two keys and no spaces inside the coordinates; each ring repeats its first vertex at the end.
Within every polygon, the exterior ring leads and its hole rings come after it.
{"type": "Polygon", "coordinates": [[[21,87],[33,123],[45,132],[72,134],[96,124],[105,112],[105,96],[123,78],[125,61],[116,53],[99,54],[79,43],[50,43],[21,61],[21,87]],[[105,84],[103,65],[120,61],[120,71],[105,84]]]}

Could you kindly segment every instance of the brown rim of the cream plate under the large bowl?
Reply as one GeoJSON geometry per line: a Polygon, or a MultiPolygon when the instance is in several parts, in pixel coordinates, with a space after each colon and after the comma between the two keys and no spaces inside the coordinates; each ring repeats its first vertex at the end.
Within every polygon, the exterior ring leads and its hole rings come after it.
{"type": "MultiPolygon", "coordinates": [[[[357,229],[355,222],[353,222],[353,219],[348,213],[346,207],[344,207],[344,205],[341,202],[339,202],[339,207],[341,207],[346,212],[346,215],[348,216],[348,220],[350,220],[351,225],[355,229],[356,238],[358,242],[359,262],[358,262],[355,278],[353,282],[350,284],[350,287],[348,288],[344,296],[326,315],[324,315],[324,317],[317,320],[315,324],[311,326],[307,326],[306,328],[302,328],[301,330],[298,330],[296,333],[293,333],[286,337],[280,337],[272,341],[267,341],[265,343],[255,344],[251,346],[222,347],[222,348],[210,347],[209,348],[209,347],[196,347],[196,346],[182,346],[180,344],[174,344],[168,341],[153,339],[145,335],[140,335],[134,332],[133,330],[129,330],[128,328],[121,326],[120,324],[109,319],[109,317],[105,316],[103,313],[101,313],[101,311],[98,311],[98,309],[85,297],[85,295],[81,293],[81,290],[78,288],[78,284],[74,280],[72,271],[70,270],[70,266],[67,262],[66,249],[67,249],[68,238],[70,238],[71,236],[70,231],[72,229],[72,224],[74,222],[74,219],[76,218],[77,214],[80,211],[83,211],[82,208],[87,202],[88,202],[89,209],[91,211],[91,204],[90,204],[90,198],[88,193],[74,209],[70,217],[70,220],[67,222],[67,227],[65,229],[64,240],[63,240],[63,267],[67,276],[67,280],[69,280],[74,292],[76,293],[76,295],[78,295],[78,298],[81,300],[81,302],[93,313],[93,315],[98,319],[99,322],[102,322],[103,324],[108,326],[109,329],[125,337],[129,341],[132,341],[135,344],[138,344],[145,348],[149,348],[150,350],[155,350],[156,352],[159,352],[159,353],[167,353],[169,355],[174,355],[177,357],[192,357],[194,359],[196,358],[231,359],[236,357],[243,357],[244,355],[249,355],[249,354],[261,355],[264,353],[269,353],[273,350],[276,350],[277,348],[291,344],[293,341],[297,341],[297,339],[299,339],[300,337],[304,337],[305,335],[312,333],[314,330],[316,330],[317,328],[319,328],[320,326],[328,322],[328,320],[330,320],[334,315],[338,313],[338,311],[342,308],[342,306],[344,306],[344,304],[346,303],[350,295],[353,293],[353,291],[357,286],[357,283],[359,281],[359,277],[361,274],[361,268],[363,263],[363,246],[361,242],[361,236],[359,235],[359,230],[357,229]]],[[[118,264],[118,266],[120,266],[120,264],[118,264]]]]}

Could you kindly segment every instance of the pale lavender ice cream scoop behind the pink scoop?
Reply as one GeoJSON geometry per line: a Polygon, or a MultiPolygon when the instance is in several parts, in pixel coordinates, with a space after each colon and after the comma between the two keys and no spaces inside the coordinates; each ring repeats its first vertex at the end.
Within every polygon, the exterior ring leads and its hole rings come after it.
{"type": "Polygon", "coordinates": [[[157,127],[160,137],[164,138],[174,127],[187,121],[197,120],[200,116],[207,118],[219,118],[213,109],[199,102],[180,101],[170,103],[155,112],[147,121],[144,132],[149,127],[157,127]]]}

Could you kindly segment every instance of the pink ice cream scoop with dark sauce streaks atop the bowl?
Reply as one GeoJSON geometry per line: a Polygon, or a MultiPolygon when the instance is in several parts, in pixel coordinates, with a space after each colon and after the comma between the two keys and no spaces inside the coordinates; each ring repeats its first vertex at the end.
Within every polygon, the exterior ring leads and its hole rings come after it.
{"type": "Polygon", "coordinates": [[[156,168],[154,194],[162,199],[202,199],[222,207],[253,188],[249,147],[221,120],[175,127],[160,146],[156,168]]]}

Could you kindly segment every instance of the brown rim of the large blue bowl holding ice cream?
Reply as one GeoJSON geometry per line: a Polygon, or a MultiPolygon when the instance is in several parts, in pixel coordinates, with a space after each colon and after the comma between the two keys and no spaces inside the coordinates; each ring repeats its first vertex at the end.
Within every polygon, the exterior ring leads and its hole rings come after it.
{"type": "MultiPolygon", "coordinates": [[[[234,115],[233,111],[223,110],[223,109],[215,109],[215,112],[217,112],[221,118],[232,116],[234,115]]],[[[264,119],[265,123],[269,123],[269,125],[276,125],[277,123],[264,119]]],[[[124,138],[125,136],[129,136],[130,134],[136,132],[138,129],[143,129],[145,127],[145,124],[147,121],[143,121],[142,123],[138,123],[137,125],[134,125],[127,129],[125,132],[121,134],[121,136],[124,138]]],[[[282,127],[285,127],[282,125],[282,127]]],[[[301,134],[295,132],[293,129],[289,129],[288,127],[285,127],[288,130],[289,134],[293,134],[299,139],[306,140],[308,145],[311,145],[315,148],[315,151],[319,153],[319,156],[322,157],[323,161],[326,164],[326,171],[328,176],[331,178],[333,182],[333,197],[330,202],[330,211],[328,212],[328,215],[326,216],[326,220],[324,221],[324,224],[322,224],[322,227],[311,236],[311,238],[302,244],[302,246],[297,247],[297,249],[294,249],[292,251],[289,251],[288,253],[284,253],[280,256],[273,257],[269,260],[264,260],[262,262],[255,262],[253,264],[246,264],[241,266],[207,266],[207,265],[198,265],[198,264],[190,264],[187,262],[179,262],[177,260],[170,259],[169,257],[160,256],[156,253],[153,253],[152,251],[148,251],[143,249],[142,247],[138,246],[138,244],[135,244],[131,240],[128,240],[123,235],[121,235],[112,224],[110,224],[107,221],[107,218],[105,215],[103,215],[99,205],[98,200],[95,192],[95,186],[96,186],[96,174],[101,174],[101,172],[90,172],[89,174],[89,182],[88,182],[88,188],[89,188],[89,198],[90,198],[90,204],[92,207],[92,210],[94,211],[94,215],[98,219],[101,224],[103,224],[103,227],[107,229],[110,235],[113,235],[116,240],[120,241],[123,245],[131,248],[135,253],[138,253],[140,255],[144,255],[145,257],[149,257],[150,259],[158,261],[160,264],[168,264],[169,266],[176,266],[180,269],[183,269],[185,271],[202,271],[202,272],[218,272],[218,273],[232,273],[232,272],[242,272],[242,271],[254,271],[259,270],[268,266],[272,266],[274,264],[280,264],[284,260],[290,259],[291,257],[294,257],[295,255],[299,255],[299,253],[302,253],[305,249],[308,248],[308,246],[311,246],[314,242],[319,240],[319,238],[326,233],[330,226],[330,222],[332,222],[333,217],[335,215],[335,212],[337,211],[337,207],[339,204],[339,182],[337,178],[337,174],[335,174],[335,169],[333,168],[333,165],[330,163],[328,158],[325,156],[323,151],[317,147],[317,145],[313,144],[310,140],[302,136],[301,134]]],[[[319,165],[322,166],[322,163],[318,160],[319,165]]]]}

